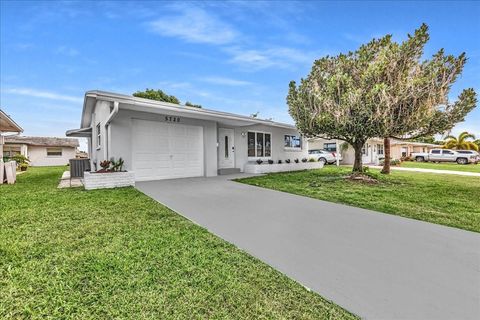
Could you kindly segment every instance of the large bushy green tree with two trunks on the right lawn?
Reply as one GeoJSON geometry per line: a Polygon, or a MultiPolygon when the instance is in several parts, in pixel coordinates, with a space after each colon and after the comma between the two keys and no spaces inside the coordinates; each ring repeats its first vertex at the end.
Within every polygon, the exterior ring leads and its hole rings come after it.
{"type": "Polygon", "coordinates": [[[354,52],[315,61],[298,87],[290,83],[287,103],[299,130],[348,142],[355,150],[353,170],[361,171],[361,150],[369,138],[386,138],[388,169],[389,138],[432,135],[462,121],[476,105],[475,92],[464,90],[454,103],[448,92],[465,55],[445,56],[440,50],[420,61],[427,31],[422,25],[401,44],[387,35],[354,52]]]}

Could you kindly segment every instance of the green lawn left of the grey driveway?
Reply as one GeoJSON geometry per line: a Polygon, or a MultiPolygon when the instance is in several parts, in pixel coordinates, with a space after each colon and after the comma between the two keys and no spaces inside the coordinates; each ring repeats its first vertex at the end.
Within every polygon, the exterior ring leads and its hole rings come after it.
{"type": "Polygon", "coordinates": [[[133,188],[0,186],[1,319],[353,319],[133,188]]]}

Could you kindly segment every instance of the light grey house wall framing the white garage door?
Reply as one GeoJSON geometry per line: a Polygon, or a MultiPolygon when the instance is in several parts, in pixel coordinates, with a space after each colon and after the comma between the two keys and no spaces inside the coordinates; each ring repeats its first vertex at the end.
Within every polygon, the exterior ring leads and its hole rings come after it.
{"type": "MultiPolygon", "coordinates": [[[[175,115],[174,113],[169,115],[175,115]]],[[[186,118],[182,115],[180,124],[203,127],[203,155],[204,173],[207,177],[217,175],[217,123],[199,119],[186,118]]],[[[108,117],[108,114],[107,116],[108,117]]],[[[131,110],[120,110],[110,124],[109,158],[122,157],[125,161],[125,169],[132,170],[132,119],[151,120],[165,122],[165,114],[153,114],[131,110]]],[[[95,131],[95,130],[94,130],[95,131]]],[[[95,140],[95,136],[92,138],[95,140]]],[[[154,143],[154,141],[152,141],[154,143]]],[[[95,148],[93,148],[95,150],[95,148]]],[[[106,158],[97,157],[93,161],[98,163],[106,158]]]]}

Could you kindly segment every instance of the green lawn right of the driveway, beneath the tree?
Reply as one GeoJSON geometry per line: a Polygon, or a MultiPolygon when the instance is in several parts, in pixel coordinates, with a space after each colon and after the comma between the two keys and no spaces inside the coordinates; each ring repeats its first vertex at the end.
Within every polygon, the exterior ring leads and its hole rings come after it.
{"type": "Polygon", "coordinates": [[[378,170],[378,184],[344,179],[350,168],[269,174],[238,180],[331,202],[480,232],[480,178],[378,170]]]}

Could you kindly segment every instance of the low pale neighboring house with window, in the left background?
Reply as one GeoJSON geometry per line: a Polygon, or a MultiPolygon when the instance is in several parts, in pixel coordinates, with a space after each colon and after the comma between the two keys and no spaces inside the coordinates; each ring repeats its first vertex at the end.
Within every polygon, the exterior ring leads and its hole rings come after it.
{"type": "Polygon", "coordinates": [[[31,166],[60,166],[75,158],[78,139],[7,136],[3,156],[22,154],[30,159],[31,166]]]}

